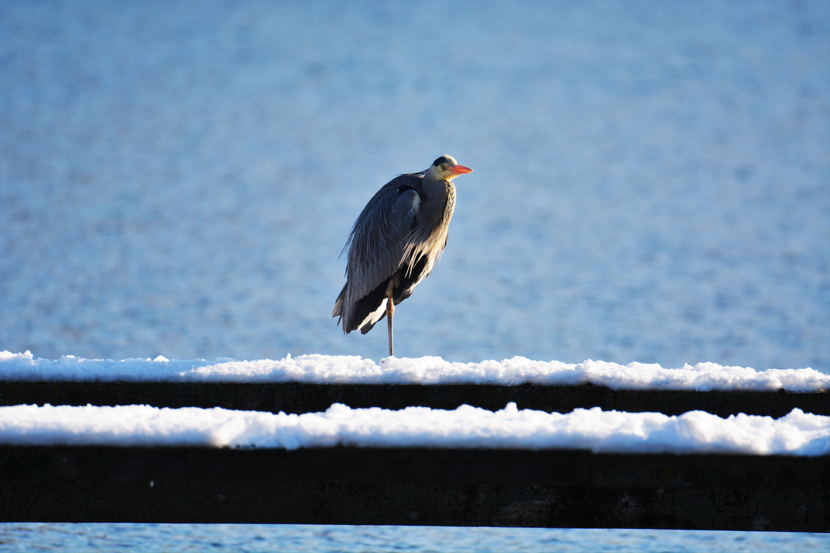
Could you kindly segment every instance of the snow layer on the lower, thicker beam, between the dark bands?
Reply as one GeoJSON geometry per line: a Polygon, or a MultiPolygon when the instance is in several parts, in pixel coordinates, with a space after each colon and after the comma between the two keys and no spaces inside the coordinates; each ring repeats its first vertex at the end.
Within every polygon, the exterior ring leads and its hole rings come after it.
{"type": "Polygon", "coordinates": [[[567,415],[518,410],[351,409],[286,415],[220,408],[149,405],[0,407],[0,444],[230,446],[297,449],[439,447],[590,449],[617,453],[720,453],[817,456],[830,453],[830,417],[793,409],[778,420],[721,419],[703,411],[680,416],[577,409],[567,415]]]}

